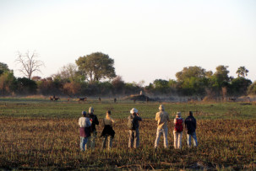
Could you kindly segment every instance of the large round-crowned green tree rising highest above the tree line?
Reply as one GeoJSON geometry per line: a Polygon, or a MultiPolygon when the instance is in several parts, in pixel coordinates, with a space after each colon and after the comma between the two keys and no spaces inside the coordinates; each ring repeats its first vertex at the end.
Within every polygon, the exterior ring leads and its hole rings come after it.
{"type": "Polygon", "coordinates": [[[79,72],[83,73],[90,82],[116,77],[115,68],[113,67],[114,60],[101,52],[81,56],[75,62],[79,67],[79,72]]]}

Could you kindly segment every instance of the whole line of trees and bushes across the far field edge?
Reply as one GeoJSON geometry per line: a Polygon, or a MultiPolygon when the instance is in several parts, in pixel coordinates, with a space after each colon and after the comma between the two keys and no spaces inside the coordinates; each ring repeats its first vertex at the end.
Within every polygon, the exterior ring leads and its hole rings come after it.
{"type": "Polygon", "coordinates": [[[51,77],[32,75],[40,72],[44,63],[37,59],[38,55],[28,51],[25,55],[18,53],[19,72],[25,77],[14,77],[14,71],[0,62],[0,95],[67,95],[79,96],[111,96],[138,94],[143,90],[150,95],[181,96],[241,96],[256,94],[256,82],[247,77],[248,69],[237,68],[237,77],[230,77],[228,66],[220,65],[215,72],[206,71],[203,67],[183,67],[176,73],[177,79],[155,79],[144,86],[140,83],[125,83],[114,68],[114,60],[101,52],[79,56],[74,64],[59,69],[51,77]]]}

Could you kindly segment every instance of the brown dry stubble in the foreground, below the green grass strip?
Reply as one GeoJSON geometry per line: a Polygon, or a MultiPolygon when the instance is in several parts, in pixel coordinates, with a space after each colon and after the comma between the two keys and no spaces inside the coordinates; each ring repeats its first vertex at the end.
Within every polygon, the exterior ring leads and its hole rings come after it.
{"type": "MultiPolygon", "coordinates": [[[[256,169],[256,120],[255,117],[245,120],[237,119],[239,117],[235,116],[239,115],[239,112],[235,112],[236,115],[228,112],[223,114],[231,115],[231,119],[226,117],[198,119],[199,147],[191,149],[187,147],[185,131],[182,136],[182,150],[173,148],[173,126],[170,122],[169,148],[163,149],[161,138],[161,146],[155,152],[153,148],[156,133],[154,115],[159,104],[151,104],[152,109],[156,110],[152,110],[152,115],[147,115],[141,122],[139,149],[128,149],[127,120],[126,116],[123,116],[121,119],[116,119],[117,123],[114,126],[116,136],[111,151],[101,149],[102,126],[100,124],[97,126],[98,137],[95,150],[80,152],[78,130],[80,115],[62,118],[31,114],[31,116],[21,117],[18,109],[14,109],[14,114],[8,115],[7,111],[12,111],[13,105],[7,104],[5,107],[1,105],[0,169],[256,169]]],[[[42,108],[41,105],[45,107],[48,105],[51,110],[52,104],[35,105],[40,105],[39,108],[42,108]]],[[[78,107],[76,105],[74,108],[78,107]]],[[[100,109],[102,105],[94,106],[100,109]]],[[[127,106],[129,109],[133,104],[120,105],[127,106]]],[[[151,110],[151,107],[144,106],[146,104],[138,104],[138,108],[139,105],[142,109],[150,108],[151,110]]],[[[187,104],[181,104],[181,107],[182,105],[187,104]]],[[[21,106],[19,106],[20,110],[25,110],[23,109],[25,105],[21,106]]],[[[57,108],[62,108],[60,106],[61,104],[58,104],[57,108]]],[[[224,107],[228,108],[227,105],[224,107]]],[[[185,108],[184,106],[182,109],[185,108]]],[[[248,111],[255,112],[254,109],[254,106],[248,106],[248,111]]],[[[31,110],[35,111],[34,108],[31,110]]],[[[105,111],[106,106],[103,105],[101,110],[105,111]]],[[[112,110],[115,110],[115,106],[112,110]]],[[[26,109],[26,112],[28,111],[26,109]]],[[[234,110],[231,113],[234,113],[234,110]]],[[[103,114],[99,115],[100,121],[103,114]]],[[[203,114],[211,116],[205,110],[195,117],[200,118],[203,114]]],[[[117,118],[117,115],[113,117],[117,118]]]]}

